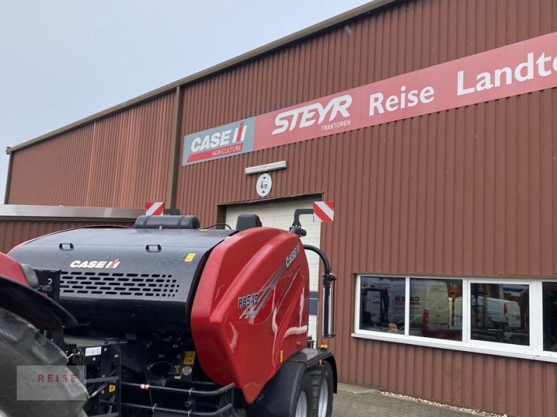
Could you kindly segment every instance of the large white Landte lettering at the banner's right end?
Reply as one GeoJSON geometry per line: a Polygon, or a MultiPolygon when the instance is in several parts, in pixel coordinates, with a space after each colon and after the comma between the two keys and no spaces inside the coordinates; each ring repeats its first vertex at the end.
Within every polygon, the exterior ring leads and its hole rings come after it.
{"type": "MultiPolygon", "coordinates": [[[[492,88],[501,87],[501,85],[510,85],[513,81],[524,83],[524,81],[533,80],[535,73],[539,76],[549,76],[552,74],[551,67],[557,72],[557,57],[545,56],[543,52],[537,60],[534,60],[534,53],[530,52],[526,56],[526,61],[520,63],[512,70],[510,67],[502,67],[491,72],[482,72],[476,76],[476,85],[464,87],[464,70],[457,73],[457,95],[471,94],[476,91],[491,90],[492,88]],[[553,65],[547,65],[553,60],[553,65]],[[537,70],[537,71],[535,71],[537,70]]],[[[470,85],[470,84],[468,84],[470,85]]]]}

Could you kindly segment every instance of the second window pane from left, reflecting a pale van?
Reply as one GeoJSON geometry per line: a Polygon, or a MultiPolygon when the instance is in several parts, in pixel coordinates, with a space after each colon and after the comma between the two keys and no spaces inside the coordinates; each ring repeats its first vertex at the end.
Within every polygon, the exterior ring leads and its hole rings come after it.
{"type": "Polygon", "coordinates": [[[410,279],[410,334],[462,341],[462,279],[410,279]]]}

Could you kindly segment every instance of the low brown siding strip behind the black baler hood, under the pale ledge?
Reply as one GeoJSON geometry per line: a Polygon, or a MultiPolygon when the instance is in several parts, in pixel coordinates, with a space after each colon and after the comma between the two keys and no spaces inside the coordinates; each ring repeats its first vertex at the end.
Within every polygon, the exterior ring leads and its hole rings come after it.
{"type": "Polygon", "coordinates": [[[0,252],[8,253],[10,250],[33,238],[60,231],[65,229],[73,229],[75,227],[86,227],[95,224],[118,224],[121,226],[133,226],[133,220],[130,222],[111,222],[110,219],[88,222],[72,222],[70,220],[41,220],[41,221],[19,221],[19,220],[1,220],[0,219],[0,252]]]}

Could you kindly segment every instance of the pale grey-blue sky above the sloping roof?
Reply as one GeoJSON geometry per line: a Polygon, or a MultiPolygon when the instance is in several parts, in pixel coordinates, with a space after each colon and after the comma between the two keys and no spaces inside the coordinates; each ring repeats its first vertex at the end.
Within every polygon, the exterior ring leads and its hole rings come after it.
{"type": "Polygon", "coordinates": [[[363,3],[0,0],[0,202],[6,146],[363,3]]]}

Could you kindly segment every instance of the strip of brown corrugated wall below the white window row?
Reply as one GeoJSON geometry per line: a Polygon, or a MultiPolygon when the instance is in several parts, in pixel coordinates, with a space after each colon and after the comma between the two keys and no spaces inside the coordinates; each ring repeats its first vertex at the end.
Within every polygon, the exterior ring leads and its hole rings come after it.
{"type": "Polygon", "coordinates": [[[357,384],[508,416],[556,415],[555,363],[379,341],[351,352],[357,384]]]}

